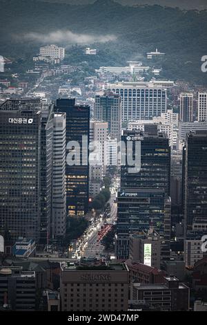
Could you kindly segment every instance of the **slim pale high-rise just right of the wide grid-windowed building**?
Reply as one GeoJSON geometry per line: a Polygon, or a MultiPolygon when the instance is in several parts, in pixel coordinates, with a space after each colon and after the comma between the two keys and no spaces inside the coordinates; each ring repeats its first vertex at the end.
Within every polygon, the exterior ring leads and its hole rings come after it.
{"type": "Polygon", "coordinates": [[[193,93],[179,95],[179,120],[193,122],[193,93]]]}

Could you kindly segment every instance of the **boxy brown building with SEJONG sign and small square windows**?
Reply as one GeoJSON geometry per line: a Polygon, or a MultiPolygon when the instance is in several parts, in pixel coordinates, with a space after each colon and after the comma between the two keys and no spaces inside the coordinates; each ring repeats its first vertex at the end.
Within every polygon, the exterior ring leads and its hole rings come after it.
{"type": "Polygon", "coordinates": [[[61,263],[61,310],[128,310],[128,273],[124,263],[61,263]]]}

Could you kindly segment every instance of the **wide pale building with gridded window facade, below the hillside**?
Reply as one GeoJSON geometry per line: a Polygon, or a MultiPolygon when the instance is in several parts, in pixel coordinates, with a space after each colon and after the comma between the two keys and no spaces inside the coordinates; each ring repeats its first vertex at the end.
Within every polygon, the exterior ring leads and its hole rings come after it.
{"type": "Polygon", "coordinates": [[[167,111],[165,82],[121,82],[108,84],[108,89],[122,100],[122,121],[150,120],[167,111]]]}

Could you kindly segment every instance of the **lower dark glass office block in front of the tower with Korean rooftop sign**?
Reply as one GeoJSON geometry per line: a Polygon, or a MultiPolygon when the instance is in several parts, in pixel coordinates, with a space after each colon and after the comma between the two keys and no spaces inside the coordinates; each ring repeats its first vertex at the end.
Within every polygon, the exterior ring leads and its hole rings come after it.
{"type": "Polygon", "coordinates": [[[161,254],[170,250],[170,210],[166,209],[169,198],[163,189],[120,189],[117,196],[117,233],[115,255],[128,259],[130,234],[148,232],[153,228],[164,238],[161,254]]]}

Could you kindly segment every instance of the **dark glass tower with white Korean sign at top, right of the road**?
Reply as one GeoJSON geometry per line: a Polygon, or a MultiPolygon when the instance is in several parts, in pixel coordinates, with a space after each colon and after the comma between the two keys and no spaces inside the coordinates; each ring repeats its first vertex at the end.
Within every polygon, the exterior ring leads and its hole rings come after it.
{"type": "MultiPolygon", "coordinates": [[[[121,166],[121,188],[137,187],[139,189],[164,189],[166,196],[170,195],[170,147],[164,133],[154,135],[139,131],[124,131],[121,136],[126,144],[126,150],[132,144],[132,157],[141,154],[141,169],[138,172],[128,172],[128,155],[121,166]],[[136,142],[140,142],[141,150],[137,150],[136,142]]],[[[138,159],[138,156],[137,156],[138,159]]]]}

